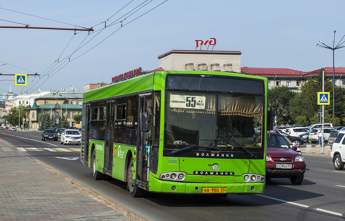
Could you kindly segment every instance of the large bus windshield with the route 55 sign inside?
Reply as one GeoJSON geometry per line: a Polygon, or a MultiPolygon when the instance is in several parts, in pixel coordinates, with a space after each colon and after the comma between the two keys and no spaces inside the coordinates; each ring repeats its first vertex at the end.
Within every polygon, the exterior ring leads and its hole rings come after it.
{"type": "Polygon", "coordinates": [[[177,156],[217,148],[231,152],[244,152],[245,148],[263,153],[264,101],[264,95],[260,94],[167,91],[164,149],[185,148],[177,156]]]}

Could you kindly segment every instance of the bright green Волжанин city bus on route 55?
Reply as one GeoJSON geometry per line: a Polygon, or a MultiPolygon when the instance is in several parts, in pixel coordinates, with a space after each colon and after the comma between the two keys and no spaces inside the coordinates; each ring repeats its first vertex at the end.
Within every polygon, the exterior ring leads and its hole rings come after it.
{"type": "Polygon", "coordinates": [[[262,194],[267,78],[156,71],[83,93],[81,162],[145,191],[262,194]]]}

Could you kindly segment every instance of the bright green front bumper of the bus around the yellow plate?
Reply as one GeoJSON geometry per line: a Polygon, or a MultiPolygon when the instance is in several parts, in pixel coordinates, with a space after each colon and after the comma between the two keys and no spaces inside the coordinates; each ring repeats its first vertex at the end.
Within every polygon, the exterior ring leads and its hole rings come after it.
{"type": "MultiPolygon", "coordinates": [[[[149,191],[158,193],[188,193],[207,194],[203,187],[226,188],[226,194],[263,194],[265,182],[253,183],[196,183],[160,180],[149,175],[149,191]]],[[[215,193],[217,194],[217,193],[215,193]]],[[[221,193],[224,194],[224,193],[221,193]]]]}

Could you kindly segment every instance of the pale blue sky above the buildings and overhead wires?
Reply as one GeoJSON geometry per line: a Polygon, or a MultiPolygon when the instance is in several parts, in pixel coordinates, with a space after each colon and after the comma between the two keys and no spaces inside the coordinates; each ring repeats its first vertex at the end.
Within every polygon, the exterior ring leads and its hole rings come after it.
{"type": "MultiPolygon", "coordinates": [[[[123,27],[115,23],[102,29],[102,22],[127,3],[107,25],[144,1],[2,2],[0,26],[75,28],[72,25],[76,25],[93,27],[95,32],[75,35],[74,31],[1,28],[0,65],[6,65],[0,66],[0,73],[37,72],[41,77],[29,77],[26,87],[14,86],[14,81],[0,81],[0,94],[7,93],[10,84],[14,93],[37,92],[38,88],[61,90],[71,88],[71,84],[77,91],[83,91],[86,84],[110,82],[111,77],[138,67],[156,69],[159,55],[170,50],[194,50],[196,39],[216,38],[216,50],[241,51],[241,66],[312,71],[332,66],[332,50],[319,48],[316,43],[322,41],[332,46],[334,30],[336,43],[345,34],[345,2],[341,0],[168,0],[132,21],[165,1],[152,0],[123,20],[123,27]]],[[[335,51],[335,67],[339,66],[345,66],[345,48],[335,51]]],[[[14,76],[0,76],[0,80],[10,78],[14,76]]]]}

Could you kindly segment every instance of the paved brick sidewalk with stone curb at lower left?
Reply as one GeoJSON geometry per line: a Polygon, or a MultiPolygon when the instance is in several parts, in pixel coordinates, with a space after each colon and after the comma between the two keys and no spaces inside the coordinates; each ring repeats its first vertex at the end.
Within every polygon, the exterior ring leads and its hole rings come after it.
{"type": "Polygon", "coordinates": [[[0,220],[146,219],[0,140],[0,220]]]}

